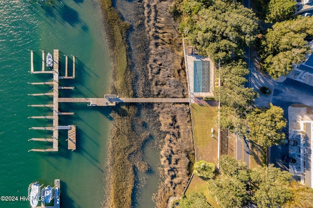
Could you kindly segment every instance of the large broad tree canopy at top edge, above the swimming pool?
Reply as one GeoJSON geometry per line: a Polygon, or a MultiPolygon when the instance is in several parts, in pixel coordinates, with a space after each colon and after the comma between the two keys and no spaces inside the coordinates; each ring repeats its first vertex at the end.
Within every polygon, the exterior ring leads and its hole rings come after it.
{"type": "Polygon", "coordinates": [[[241,3],[222,0],[185,0],[181,6],[180,31],[201,55],[214,62],[243,58],[245,46],[259,33],[257,18],[241,3]]]}

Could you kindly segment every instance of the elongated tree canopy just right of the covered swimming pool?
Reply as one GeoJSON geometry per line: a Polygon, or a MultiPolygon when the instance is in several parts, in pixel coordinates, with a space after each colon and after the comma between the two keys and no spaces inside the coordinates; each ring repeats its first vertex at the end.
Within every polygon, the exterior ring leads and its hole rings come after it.
{"type": "Polygon", "coordinates": [[[222,86],[216,87],[215,98],[221,102],[220,125],[237,135],[246,133],[246,114],[258,93],[245,87],[248,74],[246,62],[238,60],[219,69],[222,86]]]}

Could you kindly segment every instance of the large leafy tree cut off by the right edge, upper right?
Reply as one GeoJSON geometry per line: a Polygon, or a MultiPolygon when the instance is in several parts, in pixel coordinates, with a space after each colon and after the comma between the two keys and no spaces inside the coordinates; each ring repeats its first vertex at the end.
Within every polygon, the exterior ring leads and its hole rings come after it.
{"type": "Polygon", "coordinates": [[[277,79],[288,75],[292,64],[299,64],[310,52],[306,38],[313,37],[313,17],[301,17],[277,22],[261,40],[262,68],[277,79]]]}

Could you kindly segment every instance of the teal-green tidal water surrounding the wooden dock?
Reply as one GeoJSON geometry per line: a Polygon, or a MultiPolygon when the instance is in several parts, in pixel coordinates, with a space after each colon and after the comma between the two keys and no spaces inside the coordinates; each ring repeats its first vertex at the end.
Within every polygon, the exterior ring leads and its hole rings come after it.
{"type": "Polygon", "coordinates": [[[62,80],[61,97],[103,97],[110,82],[110,61],[105,44],[98,0],[0,0],[0,196],[17,196],[17,201],[0,201],[0,208],[27,208],[30,183],[53,186],[61,180],[61,206],[98,208],[104,196],[107,144],[111,129],[110,109],[87,104],[60,104],[60,125],[76,125],[77,149],[67,150],[67,132],[60,130],[59,152],[28,152],[51,148],[52,144],[27,141],[51,138],[52,132],[29,130],[52,126],[52,121],[28,119],[52,115],[49,108],[28,104],[51,104],[52,97],[29,93],[51,92],[51,86],[28,82],[51,81],[52,75],[30,74],[30,52],[34,50],[35,70],[41,70],[40,49],[61,52],[61,74],[65,59],[76,57],[76,79],[62,80]],[[42,5],[42,7],[40,6],[42,5]],[[65,5],[65,6],[64,6],[65,5]]]}

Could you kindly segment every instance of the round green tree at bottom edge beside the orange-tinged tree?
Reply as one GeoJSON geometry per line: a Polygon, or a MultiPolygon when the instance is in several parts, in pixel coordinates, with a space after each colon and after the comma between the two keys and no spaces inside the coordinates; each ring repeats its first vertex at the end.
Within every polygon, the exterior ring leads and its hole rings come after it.
{"type": "Polygon", "coordinates": [[[291,176],[291,173],[281,171],[274,165],[252,169],[250,172],[252,202],[259,208],[281,207],[292,197],[288,187],[291,176]]]}

